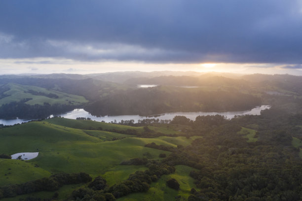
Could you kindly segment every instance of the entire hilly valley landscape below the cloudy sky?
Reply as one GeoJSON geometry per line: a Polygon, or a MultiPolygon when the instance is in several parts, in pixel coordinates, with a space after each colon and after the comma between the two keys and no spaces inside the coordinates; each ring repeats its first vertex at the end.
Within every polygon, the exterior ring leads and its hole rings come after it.
{"type": "Polygon", "coordinates": [[[0,79],[1,117],[37,117],[0,124],[1,200],[300,199],[301,77],[64,76],[0,79]]]}

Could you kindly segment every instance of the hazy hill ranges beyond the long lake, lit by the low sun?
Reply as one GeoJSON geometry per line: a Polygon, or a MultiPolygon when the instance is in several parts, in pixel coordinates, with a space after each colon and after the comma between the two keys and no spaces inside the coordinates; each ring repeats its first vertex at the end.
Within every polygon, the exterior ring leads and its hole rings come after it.
{"type": "MultiPolygon", "coordinates": [[[[128,71],[87,75],[63,73],[1,75],[2,104],[14,101],[5,98],[6,89],[4,86],[8,83],[41,87],[45,90],[82,96],[88,100],[84,107],[96,115],[150,115],[169,111],[242,110],[251,109],[259,104],[269,104],[297,112],[301,110],[300,103],[302,102],[302,76],[288,74],[242,76],[240,74],[212,72],[128,71]],[[156,84],[162,87],[139,89],[137,88],[138,84],[156,84]],[[199,88],[183,88],[186,86],[199,88]],[[225,94],[229,96],[225,96],[225,94]],[[245,104],[243,104],[244,101],[245,104]]],[[[18,96],[17,94],[15,93],[15,96],[18,96]]],[[[18,101],[25,103],[29,101],[26,100],[28,96],[28,93],[22,92],[22,95],[18,96],[20,97],[18,101]],[[24,98],[25,100],[23,100],[24,98]]],[[[42,97],[29,102],[39,105],[43,105],[44,102],[48,103],[45,101],[47,97],[42,97]]],[[[10,108],[13,108],[13,105],[10,108]]],[[[38,108],[31,109],[38,110],[38,108]]],[[[16,110],[6,111],[7,114],[9,112],[13,114],[16,113],[16,110]]]]}

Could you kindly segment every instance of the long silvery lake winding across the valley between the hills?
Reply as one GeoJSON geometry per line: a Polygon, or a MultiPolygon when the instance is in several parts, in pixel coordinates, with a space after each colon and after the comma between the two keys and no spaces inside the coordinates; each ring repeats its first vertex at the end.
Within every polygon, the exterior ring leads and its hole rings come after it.
{"type": "MultiPolygon", "coordinates": [[[[155,118],[159,120],[168,120],[168,119],[173,119],[175,116],[186,116],[187,118],[191,120],[195,120],[197,116],[206,116],[206,115],[224,115],[227,117],[227,119],[233,118],[235,115],[246,115],[246,114],[251,114],[251,115],[260,115],[260,112],[264,109],[269,109],[269,105],[261,105],[257,106],[251,110],[244,110],[244,111],[231,111],[231,112],[172,112],[172,113],[164,113],[164,114],[159,114],[160,116],[156,117],[146,117],[146,116],[140,116],[140,115],[119,115],[119,116],[103,116],[103,117],[96,117],[91,115],[89,112],[86,112],[84,109],[74,109],[73,111],[60,114],[58,116],[68,118],[68,119],[76,119],[76,117],[86,117],[90,118],[91,120],[95,121],[105,121],[105,122],[120,122],[121,120],[131,120],[133,119],[135,122],[138,120],[143,120],[146,118],[155,118]]],[[[53,117],[51,115],[50,117],[53,117]]],[[[31,120],[22,120],[22,119],[13,119],[13,120],[3,120],[0,119],[0,124],[4,125],[14,125],[17,123],[22,123],[22,122],[28,122],[31,120]]]]}

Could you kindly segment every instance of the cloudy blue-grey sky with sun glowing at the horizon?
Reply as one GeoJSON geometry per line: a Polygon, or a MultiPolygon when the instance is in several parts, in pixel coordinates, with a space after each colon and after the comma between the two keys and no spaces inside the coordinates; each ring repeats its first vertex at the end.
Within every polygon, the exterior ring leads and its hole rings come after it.
{"type": "Polygon", "coordinates": [[[0,74],[302,75],[302,0],[0,0],[0,74]]]}

